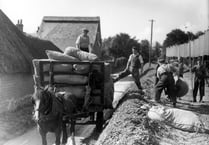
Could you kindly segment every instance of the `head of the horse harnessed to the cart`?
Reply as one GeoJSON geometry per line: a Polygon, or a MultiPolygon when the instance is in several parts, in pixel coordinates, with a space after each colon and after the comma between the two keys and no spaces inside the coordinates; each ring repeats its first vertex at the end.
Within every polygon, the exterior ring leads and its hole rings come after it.
{"type": "Polygon", "coordinates": [[[34,87],[32,95],[32,103],[34,105],[34,119],[39,121],[40,115],[48,115],[52,110],[53,93],[50,87],[41,88],[34,87]]]}

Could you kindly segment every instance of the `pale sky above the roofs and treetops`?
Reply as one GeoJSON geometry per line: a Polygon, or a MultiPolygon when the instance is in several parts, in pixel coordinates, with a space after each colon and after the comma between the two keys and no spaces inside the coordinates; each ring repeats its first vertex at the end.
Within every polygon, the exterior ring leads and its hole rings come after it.
{"type": "Polygon", "coordinates": [[[102,39],[126,33],[160,42],[173,29],[209,28],[209,0],[0,0],[0,9],[24,32],[35,33],[44,16],[99,16],[102,39]]]}

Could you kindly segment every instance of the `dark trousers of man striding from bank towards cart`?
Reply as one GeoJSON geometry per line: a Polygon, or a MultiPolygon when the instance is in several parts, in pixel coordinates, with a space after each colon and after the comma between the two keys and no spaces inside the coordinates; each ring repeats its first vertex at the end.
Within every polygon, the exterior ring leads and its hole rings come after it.
{"type": "Polygon", "coordinates": [[[119,80],[121,78],[124,78],[128,76],[129,74],[131,74],[132,77],[134,78],[134,82],[136,83],[138,89],[142,89],[141,82],[140,82],[139,69],[133,69],[132,71],[130,71],[129,69],[125,69],[124,71],[119,73],[119,76],[117,79],[119,80]]]}

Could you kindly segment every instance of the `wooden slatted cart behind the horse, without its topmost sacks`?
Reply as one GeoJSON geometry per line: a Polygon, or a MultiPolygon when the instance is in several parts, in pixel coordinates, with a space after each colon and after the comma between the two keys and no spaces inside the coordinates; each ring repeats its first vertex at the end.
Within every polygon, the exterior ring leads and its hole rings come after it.
{"type": "Polygon", "coordinates": [[[112,107],[114,93],[110,64],[35,59],[33,66],[35,86],[53,86],[55,92],[70,92],[76,97],[75,111],[63,114],[63,120],[71,124],[72,137],[76,124],[95,124],[96,129],[102,129],[103,111],[112,107]]]}

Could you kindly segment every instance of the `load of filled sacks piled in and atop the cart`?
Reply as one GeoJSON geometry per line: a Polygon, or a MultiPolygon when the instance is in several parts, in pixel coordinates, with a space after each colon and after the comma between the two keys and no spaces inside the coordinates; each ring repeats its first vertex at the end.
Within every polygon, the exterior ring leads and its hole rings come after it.
{"type": "MultiPolygon", "coordinates": [[[[63,87],[59,87],[59,91],[66,91],[74,94],[77,98],[83,98],[86,95],[87,86],[89,77],[88,72],[90,71],[90,63],[85,64],[76,64],[76,62],[96,62],[99,61],[97,55],[93,53],[88,53],[85,51],[81,51],[75,47],[67,47],[64,51],[51,51],[46,50],[46,54],[49,59],[35,59],[33,60],[34,66],[34,81],[36,84],[40,84],[38,81],[40,80],[40,76],[42,76],[42,80],[44,82],[49,82],[50,76],[47,73],[50,70],[50,61],[64,61],[64,62],[75,62],[72,64],[54,64],[53,72],[61,72],[55,73],[53,76],[53,81],[55,83],[63,83],[69,84],[63,87]],[[44,61],[45,63],[40,63],[44,61]],[[46,63],[47,62],[47,63],[46,63]],[[43,65],[42,68],[40,65],[43,65]],[[40,70],[41,69],[41,70],[40,70]],[[72,72],[72,74],[70,74],[72,72]],[[42,73],[42,74],[40,74],[42,73]]],[[[93,70],[98,70],[100,74],[104,75],[104,104],[106,108],[112,108],[113,94],[114,94],[114,84],[111,78],[111,66],[109,63],[104,62],[104,72],[102,71],[101,66],[98,64],[94,64],[91,66],[93,70]]],[[[96,89],[94,91],[97,91],[96,89]]],[[[97,97],[94,99],[94,104],[100,104],[101,97],[97,97]]]]}

